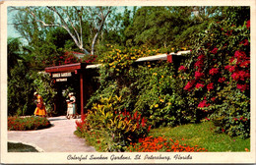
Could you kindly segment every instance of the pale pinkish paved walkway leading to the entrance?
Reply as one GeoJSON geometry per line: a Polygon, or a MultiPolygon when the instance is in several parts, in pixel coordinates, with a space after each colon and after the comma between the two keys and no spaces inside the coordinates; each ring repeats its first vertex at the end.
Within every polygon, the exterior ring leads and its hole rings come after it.
{"type": "Polygon", "coordinates": [[[53,125],[37,131],[8,131],[8,141],[32,144],[44,152],[95,152],[84,138],[74,135],[77,119],[67,120],[65,116],[48,118],[53,125]]]}

